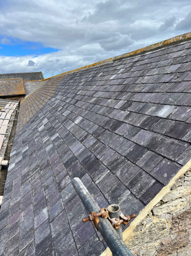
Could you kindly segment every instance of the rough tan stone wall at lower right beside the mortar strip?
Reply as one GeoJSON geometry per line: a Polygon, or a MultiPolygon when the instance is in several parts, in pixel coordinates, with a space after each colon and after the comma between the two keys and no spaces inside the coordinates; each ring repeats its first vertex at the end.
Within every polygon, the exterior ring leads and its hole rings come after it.
{"type": "MultiPolygon", "coordinates": [[[[191,255],[191,168],[169,191],[132,232],[131,226],[125,230],[124,242],[134,256],[191,255]]],[[[106,255],[111,255],[109,248],[102,253],[106,255]]]]}

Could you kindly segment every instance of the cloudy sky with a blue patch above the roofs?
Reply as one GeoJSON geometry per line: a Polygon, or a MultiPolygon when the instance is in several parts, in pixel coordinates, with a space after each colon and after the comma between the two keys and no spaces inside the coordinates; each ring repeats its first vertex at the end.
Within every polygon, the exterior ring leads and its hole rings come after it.
{"type": "Polygon", "coordinates": [[[52,77],[190,31],[190,0],[0,0],[0,74],[52,77]]]}

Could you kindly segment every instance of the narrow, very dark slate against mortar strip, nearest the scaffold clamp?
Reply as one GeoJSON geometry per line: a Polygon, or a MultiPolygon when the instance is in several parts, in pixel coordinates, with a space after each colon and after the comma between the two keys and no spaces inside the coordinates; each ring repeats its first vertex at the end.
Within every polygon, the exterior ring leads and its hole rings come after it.
{"type": "Polygon", "coordinates": [[[159,181],[155,181],[148,190],[140,197],[140,200],[147,205],[150,201],[160,192],[160,190],[164,187],[159,181]]]}

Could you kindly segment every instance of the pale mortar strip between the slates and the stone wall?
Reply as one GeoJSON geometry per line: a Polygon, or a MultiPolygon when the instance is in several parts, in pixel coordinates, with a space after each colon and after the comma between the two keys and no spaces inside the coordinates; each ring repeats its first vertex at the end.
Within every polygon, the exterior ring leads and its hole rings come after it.
{"type": "MultiPolygon", "coordinates": [[[[139,213],[139,215],[131,222],[131,224],[128,226],[128,228],[126,228],[126,230],[124,230],[124,232],[123,232],[124,243],[131,237],[135,228],[148,215],[150,210],[152,210],[153,207],[156,204],[158,204],[161,199],[163,199],[168,193],[170,193],[170,189],[175,184],[177,179],[182,177],[188,170],[191,170],[191,160],[188,161],[188,163],[179,170],[177,175],[175,175],[175,177],[173,177],[170,180],[168,185],[166,185],[164,188],[161,189],[161,191],[153,198],[153,200],[151,200],[150,203],[148,203],[147,206],[145,206],[145,208],[142,210],[142,212],[139,213]]],[[[104,250],[104,252],[100,256],[111,256],[111,255],[112,255],[111,250],[109,248],[106,248],[106,250],[104,250]]]]}

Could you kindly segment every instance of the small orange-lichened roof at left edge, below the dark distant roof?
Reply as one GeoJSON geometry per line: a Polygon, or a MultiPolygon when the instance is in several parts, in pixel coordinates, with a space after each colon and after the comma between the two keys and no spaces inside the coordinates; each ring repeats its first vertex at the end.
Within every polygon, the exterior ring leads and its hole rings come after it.
{"type": "Polygon", "coordinates": [[[0,97],[25,95],[22,78],[0,79],[0,97]]]}

